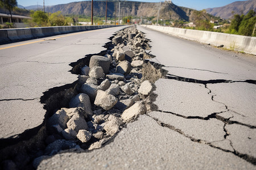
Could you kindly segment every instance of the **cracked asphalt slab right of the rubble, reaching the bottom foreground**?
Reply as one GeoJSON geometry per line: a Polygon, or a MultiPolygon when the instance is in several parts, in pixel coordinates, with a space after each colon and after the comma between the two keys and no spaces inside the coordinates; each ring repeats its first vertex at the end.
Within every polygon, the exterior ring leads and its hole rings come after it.
{"type": "Polygon", "coordinates": [[[38,169],[255,169],[256,58],[139,27],[151,59],[157,111],[90,152],[62,153],[38,169]]]}

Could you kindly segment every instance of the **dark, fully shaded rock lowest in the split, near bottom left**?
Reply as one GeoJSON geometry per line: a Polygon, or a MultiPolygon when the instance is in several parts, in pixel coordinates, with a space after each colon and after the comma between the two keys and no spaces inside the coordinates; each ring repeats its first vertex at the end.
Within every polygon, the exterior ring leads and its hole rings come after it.
{"type": "Polygon", "coordinates": [[[46,147],[44,150],[45,155],[54,155],[57,154],[60,150],[67,150],[70,148],[80,148],[80,146],[76,145],[73,141],[66,141],[64,139],[60,139],[52,142],[46,147]]]}

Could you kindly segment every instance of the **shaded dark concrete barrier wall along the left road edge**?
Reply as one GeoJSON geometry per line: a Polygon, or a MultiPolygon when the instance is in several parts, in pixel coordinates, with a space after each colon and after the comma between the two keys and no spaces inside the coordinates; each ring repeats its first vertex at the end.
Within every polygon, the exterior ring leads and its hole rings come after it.
{"type": "Polygon", "coordinates": [[[38,27],[38,28],[17,28],[0,29],[0,43],[23,41],[40,37],[60,35],[93,29],[118,27],[121,25],[88,25],[88,26],[61,26],[61,27],[38,27]]]}

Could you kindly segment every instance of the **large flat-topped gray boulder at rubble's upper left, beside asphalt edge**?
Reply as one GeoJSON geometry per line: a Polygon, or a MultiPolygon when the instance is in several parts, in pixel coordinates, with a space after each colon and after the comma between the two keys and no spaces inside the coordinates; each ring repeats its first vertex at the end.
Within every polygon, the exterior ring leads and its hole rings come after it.
{"type": "Polygon", "coordinates": [[[109,73],[110,59],[108,57],[102,56],[92,56],[90,57],[89,67],[92,68],[94,66],[102,67],[105,74],[109,73]]]}

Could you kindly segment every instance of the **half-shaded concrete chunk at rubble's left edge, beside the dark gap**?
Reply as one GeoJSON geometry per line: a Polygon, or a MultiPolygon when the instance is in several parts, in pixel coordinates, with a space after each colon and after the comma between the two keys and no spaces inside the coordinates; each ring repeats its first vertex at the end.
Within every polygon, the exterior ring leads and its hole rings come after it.
{"type": "Polygon", "coordinates": [[[64,109],[61,109],[54,113],[47,121],[48,126],[52,125],[60,125],[62,129],[67,128],[67,122],[69,120],[69,117],[67,113],[64,111],[64,109]]]}

